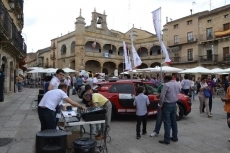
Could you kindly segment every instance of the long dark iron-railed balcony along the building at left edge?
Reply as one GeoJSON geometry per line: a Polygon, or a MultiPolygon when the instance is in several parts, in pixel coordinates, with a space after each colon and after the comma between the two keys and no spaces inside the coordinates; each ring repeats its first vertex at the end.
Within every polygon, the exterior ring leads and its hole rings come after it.
{"type": "Polygon", "coordinates": [[[21,32],[16,28],[7,8],[0,2],[0,39],[2,43],[12,45],[13,48],[24,55],[27,53],[27,46],[22,38],[21,32]]]}

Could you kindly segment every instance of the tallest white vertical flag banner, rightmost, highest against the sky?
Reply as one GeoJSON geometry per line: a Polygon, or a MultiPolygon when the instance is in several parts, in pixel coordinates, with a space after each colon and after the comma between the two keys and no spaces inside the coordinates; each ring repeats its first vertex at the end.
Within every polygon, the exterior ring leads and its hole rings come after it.
{"type": "Polygon", "coordinates": [[[163,51],[163,53],[165,54],[165,62],[166,63],[171,63],[171,60],[169,59],[169,54],[168,54],[168,51],[161,39],[161,8],[159,9],[156,9],[155,11],[152,12],[152,15],[153,15],[153,25],[154,25],[154,28],[155,28],[155,32],[156,32],[156,35],[157,35],[157,38],[160,42],[160,45],[161,45],[161,49],[163,51]]]}

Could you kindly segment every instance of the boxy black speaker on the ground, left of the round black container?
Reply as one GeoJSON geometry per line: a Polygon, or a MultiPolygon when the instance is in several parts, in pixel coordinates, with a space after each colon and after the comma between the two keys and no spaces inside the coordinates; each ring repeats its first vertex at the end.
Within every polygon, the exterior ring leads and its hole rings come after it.
{"type": "Polygon", "coordinates": [[[56,129],[36,134],[36,153],[66,153],[67,134],[56,129]]]}

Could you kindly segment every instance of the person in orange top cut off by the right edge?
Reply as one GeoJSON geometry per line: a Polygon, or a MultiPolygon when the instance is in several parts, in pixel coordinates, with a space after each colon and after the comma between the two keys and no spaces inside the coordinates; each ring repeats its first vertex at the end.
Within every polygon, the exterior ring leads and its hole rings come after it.
{"type": "MultiPolygon", "coordinates": [[[[230,82],[228,82],[228,85],[230,84],[230,82]]],[[[222,102],[225,103],[224,105],[224,111],[227,113],[227,124],[228,127],[230,128],[230,86],[228,86],[227,88],[227,92],[226,92],[226,98],[221,98],[222,102]]],[[[228,141],[230,142],[230,139],[228,139],[228,141]]]]}

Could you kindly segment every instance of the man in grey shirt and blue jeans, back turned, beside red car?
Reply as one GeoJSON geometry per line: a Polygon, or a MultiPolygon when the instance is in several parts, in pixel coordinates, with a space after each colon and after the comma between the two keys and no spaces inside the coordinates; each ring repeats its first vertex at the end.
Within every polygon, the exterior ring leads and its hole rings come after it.
{"type": "Polygon", "coordinates": [[[164,86],[160,95],[160,106],[162,109],[163,121],[164,121],[164,140],[160,140],[159,143],[170,144],[171,141],[178,141],[178,129],[176,121],[176,103],[178,101],[178,94],[180,88],[173,80],[171,75],[164,76],[164,86]],[[172,129],[172,137],[170,138],[170,130],[172,129]]]}

